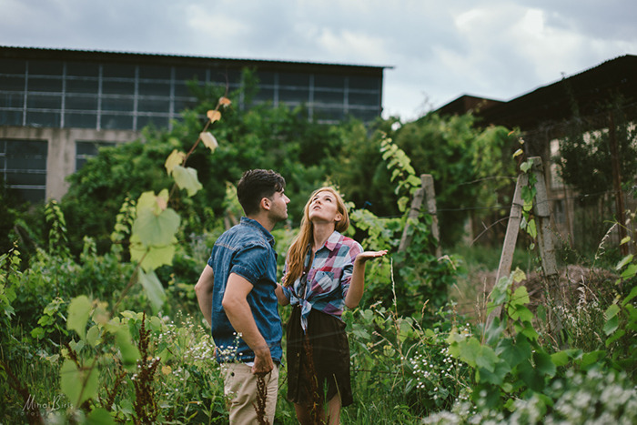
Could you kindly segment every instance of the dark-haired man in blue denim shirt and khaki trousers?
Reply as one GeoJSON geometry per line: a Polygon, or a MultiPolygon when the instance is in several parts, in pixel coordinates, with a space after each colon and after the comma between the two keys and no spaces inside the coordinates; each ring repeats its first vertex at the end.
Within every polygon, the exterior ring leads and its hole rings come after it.
{"type": "Polygon", "coordinates": [[[270,231],[288,218],[285,179],[271,170],[248,170],[238,182],[246,217],[221,235],[195,291],[212,328],[230,423],[257,423],[258,377],[268,389],[266,419],[277,408],[283,329],[278,316],[277,253],[270,231]]]}

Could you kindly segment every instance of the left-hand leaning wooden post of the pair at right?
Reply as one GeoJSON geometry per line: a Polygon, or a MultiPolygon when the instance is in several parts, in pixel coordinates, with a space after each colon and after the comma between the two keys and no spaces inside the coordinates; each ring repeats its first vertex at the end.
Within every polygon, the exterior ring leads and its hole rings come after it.
{"type": "MultiPolygon", "coordinates": [[[[526,173],[520,173],[518,181],[515,184],[511,213],[509,213],[509,224],[507,225],[507,233],[504,236],[504,244],[502,245],[500,265],[498,266],[498,273],[495,275],[495,285],[498,284],[500,278],[511,274],[513,253],[515,252],[515,244],[518,241],[518,232],[520,232],[520,223],[522,220],[522,207],[524,206],[521,192],[522,187],[525,187],[528,182],[529,176],[526,173]]],[[[490,315],[487,318],[486,328],[490,327],[493,318],[500,317],[501,310],[501,306],[498,306],[490,312],[490,315]]]]}

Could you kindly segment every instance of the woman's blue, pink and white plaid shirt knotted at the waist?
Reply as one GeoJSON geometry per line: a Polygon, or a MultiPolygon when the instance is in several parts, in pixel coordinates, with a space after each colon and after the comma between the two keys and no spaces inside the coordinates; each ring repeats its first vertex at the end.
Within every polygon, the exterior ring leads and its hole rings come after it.
{"type": "MultiPolygon", "coordinates": [[[[308,328],[308,315],[311,309],[328,313],[340,319],[345,307],[345,296],[349,290],[354,259],[363,251],[359,242],[341,235],[336,230],[325,245],[320,248],[308,271],[305,293],[298,278],[290,287],[283,287],[283,293],[290,304],[301,306],[301,327],[308,328]]],[[[310,250],[304,266],[308,266],[310,250]]],[[[286,264],[287,269],[287,264],[286,264]]],[[[284,271],[285,276],[285,271],[284,271]]]]}

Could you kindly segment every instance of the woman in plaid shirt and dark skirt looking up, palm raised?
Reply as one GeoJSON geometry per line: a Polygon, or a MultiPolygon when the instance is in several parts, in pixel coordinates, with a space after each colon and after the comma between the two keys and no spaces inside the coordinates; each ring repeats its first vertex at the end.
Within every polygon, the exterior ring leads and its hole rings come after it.
{"type": "Polygon", "coordinates": [[[341,406],[352,403],[349,343],[340,319],[347,306],[359,305],[365,285],[365,262],[387,253],[363,252],[342,232],[349,227],[343,199],[321,187],[308,200],[297,237],[286,259],[281,305],[294,306],[288,322],[288,400],[302,423],[339,423],[341,406]]]}

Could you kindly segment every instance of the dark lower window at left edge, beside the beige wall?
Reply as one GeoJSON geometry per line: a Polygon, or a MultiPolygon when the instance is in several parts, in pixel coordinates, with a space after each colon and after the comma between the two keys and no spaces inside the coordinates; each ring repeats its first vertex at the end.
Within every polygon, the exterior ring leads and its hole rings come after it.
{"type": "Polygon", "coordinates": [[[0,139],[0,165],[6,187],[25,201],[44,201],[47,152],[45,140],[0,139]]]}

